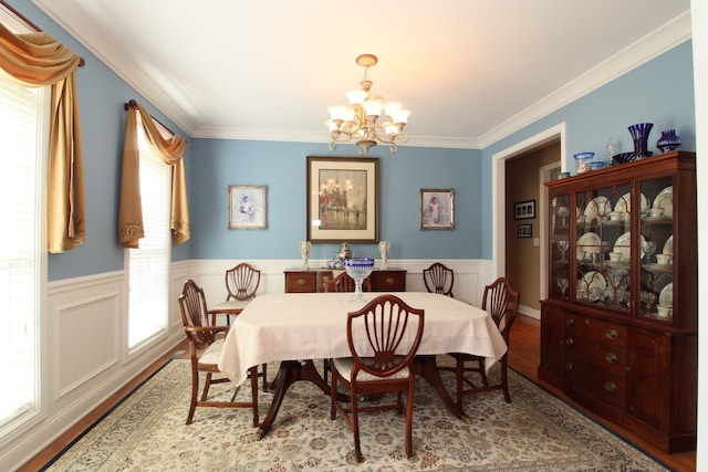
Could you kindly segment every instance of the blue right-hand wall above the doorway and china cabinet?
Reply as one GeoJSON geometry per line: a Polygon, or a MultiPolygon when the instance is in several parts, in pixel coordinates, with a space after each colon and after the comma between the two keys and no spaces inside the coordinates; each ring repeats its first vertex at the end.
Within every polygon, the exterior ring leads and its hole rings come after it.
{"type": "MultiPolygon", "coordinates": [[[[649,150],[663,129],[675,128],[681,150],[696,150],[696,115],[691,42],[687,41],[634,69],[594,92],[538,119],[482,150],[482,174],[491,177],[493,155],[565,122],[566,166],[574,170],[573,154],[591,150],[604,156],[613,138],[620,151],[634,149],[627,126],[654,123],[649,150]]],[[[574,172],[573,172],[574,174],[574,172]]],[[[491,178],[482,179],[482,221],[491,222],[491,178]]],[[[482,224],[482,258],[492,256],[491,224],[482,224]]]]}

